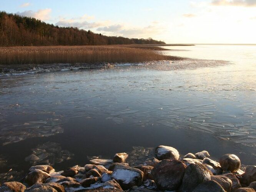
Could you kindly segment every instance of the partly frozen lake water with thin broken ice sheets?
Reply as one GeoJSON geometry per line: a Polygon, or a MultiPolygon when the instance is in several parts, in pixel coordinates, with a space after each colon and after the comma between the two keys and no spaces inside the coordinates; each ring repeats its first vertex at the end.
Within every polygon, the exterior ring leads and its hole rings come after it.
{"type": "Polygon", "coordinates": [[[31,154],[64,169],[160,144],[255,164],[256,46],[168,48],[192,59],[1,76],[0,172],[31,154]]]}

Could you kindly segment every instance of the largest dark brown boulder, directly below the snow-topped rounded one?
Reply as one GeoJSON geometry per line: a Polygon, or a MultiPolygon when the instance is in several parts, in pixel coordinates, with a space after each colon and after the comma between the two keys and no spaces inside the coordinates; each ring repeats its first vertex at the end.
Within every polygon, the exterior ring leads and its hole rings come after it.
{"type": "Polygon", "coordinates": [[[164,159],[159,162],[152,170],[153,178],[160,190],[178,190],[186,165],[179,160],[164,159]]]}

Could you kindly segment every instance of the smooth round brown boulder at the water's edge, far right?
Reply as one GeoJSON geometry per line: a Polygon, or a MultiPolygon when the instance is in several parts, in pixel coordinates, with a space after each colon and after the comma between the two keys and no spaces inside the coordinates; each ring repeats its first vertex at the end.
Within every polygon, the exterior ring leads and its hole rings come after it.
{"type": "Polygon", "coordinates": [[[236,172],[241,166],[240,159],[234,154],[225,154],[219,159],[219,164],[223,170],[236,172]]]}

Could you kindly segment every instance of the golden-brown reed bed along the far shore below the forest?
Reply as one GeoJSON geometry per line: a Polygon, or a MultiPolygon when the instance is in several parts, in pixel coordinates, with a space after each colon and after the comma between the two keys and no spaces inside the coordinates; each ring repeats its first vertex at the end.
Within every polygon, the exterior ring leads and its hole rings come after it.
{"type": "MultiPolygon", "coordinates": [[[[154,50],[154,49],[153,49],[154,50]]],[[[0,47],[0,64],[125,63],[179,60],[140,46],[24,46],[0,47]]]]}

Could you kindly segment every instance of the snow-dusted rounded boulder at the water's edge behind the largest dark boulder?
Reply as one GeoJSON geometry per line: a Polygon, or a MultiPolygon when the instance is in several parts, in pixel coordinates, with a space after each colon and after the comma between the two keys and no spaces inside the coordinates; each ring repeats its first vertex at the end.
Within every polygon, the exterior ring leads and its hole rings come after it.
{"type": "Polygon", "coordinates": [[[155,153],[156,153],[156,157],[159,160],[163,160],[163,159],[178,160],[180,157],[180,154],[177,151],[177,149],[169,146],[163,146],[163,145],[156,147],[155,153]]]}

